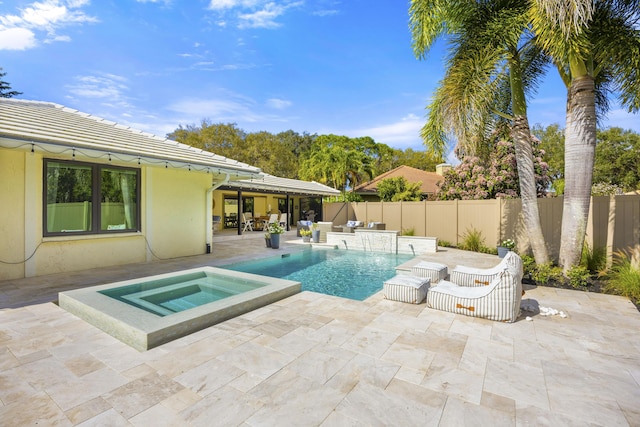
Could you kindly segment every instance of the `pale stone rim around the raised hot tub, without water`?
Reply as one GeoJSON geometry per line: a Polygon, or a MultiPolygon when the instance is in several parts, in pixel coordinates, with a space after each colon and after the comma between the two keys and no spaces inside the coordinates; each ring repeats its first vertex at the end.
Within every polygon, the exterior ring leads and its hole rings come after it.
{"type": "Polygon", "coordinates": [[[89,288],[75,289],[58,294],[59,305],[66,311],[103,330],[109,335],[145,351],[174,339],[239,316],[256,308],[297,294],[301,283],[226,270],[217,267],[199,267],[166,274],[114,282],[89,288]],[[267,285],[259,289],[233,295],[169,316],[157,316],[128,305],[99,291],[139,283],[142,280],[159,280],[176,275],[196,272],[258,281],[267,285]]]}

